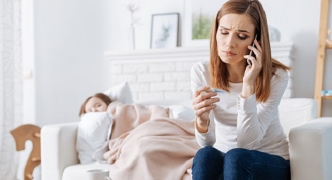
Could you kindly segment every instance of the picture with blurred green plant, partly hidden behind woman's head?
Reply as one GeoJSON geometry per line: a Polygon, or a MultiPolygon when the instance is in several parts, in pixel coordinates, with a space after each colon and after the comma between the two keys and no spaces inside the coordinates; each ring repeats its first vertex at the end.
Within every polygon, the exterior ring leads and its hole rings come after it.
{"type": "Polygon", "coordinates": [[[211,25],[215,15],[227,0],[184,0],[184,47],[209,46],[211,25]]]}

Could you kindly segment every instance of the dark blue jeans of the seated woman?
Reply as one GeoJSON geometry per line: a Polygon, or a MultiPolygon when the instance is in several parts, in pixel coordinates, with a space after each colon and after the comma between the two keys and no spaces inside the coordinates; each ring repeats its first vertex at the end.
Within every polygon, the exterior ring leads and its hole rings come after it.
{"type": "Polygon", "coordinates": [[[225,154],[207,146],[196,153],[192,175],[193,180],[288,180],[290,161],[256,150],[236,148],[225,154]]]}

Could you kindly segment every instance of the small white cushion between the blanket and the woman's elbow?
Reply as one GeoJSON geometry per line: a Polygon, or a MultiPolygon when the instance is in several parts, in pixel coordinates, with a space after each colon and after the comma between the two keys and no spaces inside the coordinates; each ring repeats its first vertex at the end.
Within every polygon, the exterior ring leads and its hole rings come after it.
{"type": "Polygon", "coordinates": [[[196,118],[194,110],[190,107],[185,107],[181,105],[172,105],[170,108],[170,117],[174,119],[182,119],[186,121],[191,121],[196,118]]]}

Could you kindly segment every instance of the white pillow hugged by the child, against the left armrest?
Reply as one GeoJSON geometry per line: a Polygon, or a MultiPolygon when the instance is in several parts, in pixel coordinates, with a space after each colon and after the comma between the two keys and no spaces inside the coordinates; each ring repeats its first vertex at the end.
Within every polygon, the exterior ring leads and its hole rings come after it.
{"type": "Polygon", "coordinates": [[[109,112],[89,112],[81,116],[76,137],[76,150],[81,164],[95,161],[93,152],[107,141],[112,123],[109,112]]]}

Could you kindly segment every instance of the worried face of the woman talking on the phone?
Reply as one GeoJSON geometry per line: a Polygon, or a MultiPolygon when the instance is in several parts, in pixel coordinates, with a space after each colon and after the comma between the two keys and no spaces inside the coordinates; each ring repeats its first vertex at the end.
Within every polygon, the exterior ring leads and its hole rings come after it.
{"type": "Polygon", "coordinates": [[[227,64],[242,61],[243,56],[249,54],[248,46],[254,42],[254,33],[254,23],[248,16],[235,13],[223,16],[216,35],[220,59],[227,64]]]}

